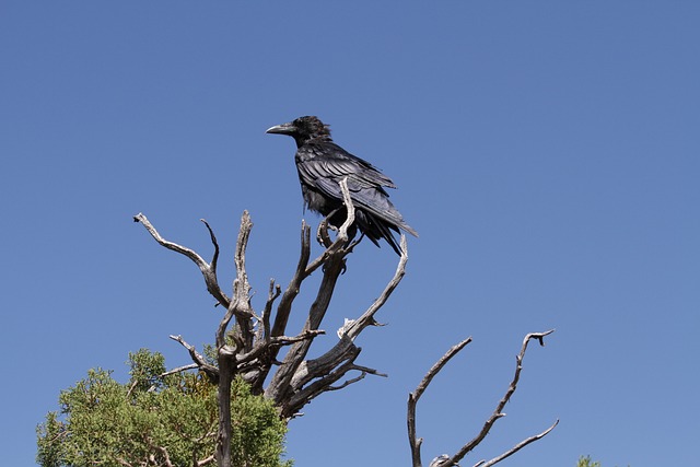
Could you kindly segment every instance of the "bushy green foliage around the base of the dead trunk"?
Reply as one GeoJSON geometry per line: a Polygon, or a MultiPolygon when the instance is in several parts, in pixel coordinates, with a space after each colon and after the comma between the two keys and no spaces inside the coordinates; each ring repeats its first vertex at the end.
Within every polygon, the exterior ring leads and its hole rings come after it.
{"type": "MultiPolygon", "coordinates": [[[[37,427],[39,465],[191,466],[213,455],[217,387],[201,374],[162,377],[163,355],[145,349],[130,353],[128,363],[128,384],[97,369],[61,392],[60,410],[37,427]]],[[[291,466],[280,460],[287,428],[271,402],[250,395],[242,380],[231,397],[234,465],[291,466]]]]}

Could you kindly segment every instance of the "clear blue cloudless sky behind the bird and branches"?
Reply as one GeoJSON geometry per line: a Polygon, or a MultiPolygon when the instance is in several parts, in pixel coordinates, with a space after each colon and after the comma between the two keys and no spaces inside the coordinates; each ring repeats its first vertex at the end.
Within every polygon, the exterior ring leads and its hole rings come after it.
{"type": "MultiPolygon", "coordinates": [[[[3,465],[34,465],[36,424],[88,369],[125,381],[129,351],[176,366],[189,360],[170,334],[213,340],[199,271],[133,214],[209,256],[206,218],[226,284],[247,209],[254,305],[270,277],[287,283],[301,220],[317,218],[293,141],[265,130],[301,115],[396,182],[421,236],[378,315],[389,326],[359,342],[389,378],[307,406],[290,425],[298,466],[409,465],[407,394],[472,336],[418,408],[424,460],[453,453],[522,338],[550,328],[463,465],[557,418],[502,465],[697,462],[699,24],[697,1],[3,1],[3,465]]],[[[320,347],[395,264],[360,245],[320,347]]]]}

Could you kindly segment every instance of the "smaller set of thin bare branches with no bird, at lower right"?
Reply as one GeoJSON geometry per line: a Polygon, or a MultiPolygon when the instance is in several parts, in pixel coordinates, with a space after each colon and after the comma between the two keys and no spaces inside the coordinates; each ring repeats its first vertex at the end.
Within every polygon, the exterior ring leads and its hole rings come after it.
{"type": "MultiPolygon", "coordinates": [[[[481,428],[479,433],[477,433],[475,437],[472,437],[469,442],[467,442],[464,446],[462,446],[455,454],[453,455],[442,454],[433,458],[429,467],[458,466],[459,464],[457,463],[462,460],[464,456],[466,456],[471,451],[474,451],[474,448],[477,447],[483,441],[486,435],[489,434],[489,432],[491,431],[491,428],[493,427],[495,421],[502,417],[505,417],[503,409],[505,408],[505,405],[509,402],[509,400],[511,400],[511,396],[513,396],[513,394],[515,393],[515,389],[517,388],[517,383],[521,378],[521,371],[523,370],[523,359],[525,358],[525,352],[527,351],[527,345],[532,339],[536,339],[537,341],[539,341],[540,346],[545,346],[545,336],[548,336],[553,331],[555,330],[551,329],[546,332],[533,332],[525,336],[525,339],[523,339],[523,346],[521,348],[521,351],[515,357],[515,373],[513,374],[511,384],[509,385],[501,400],[499,400],[495,407],[495,410],[493,410],[493,413],[491,413],[491,416],[483,423],[483,427],[481,428]]],[[[428,385],[435,377],[435,375],[438,375],[438,373],[440,373],[440,371],[447,364],[447,362],[454,355],[456,355],[457,352],[464,349],[469,342],[471,342],[470,337],[453,346],[450,350],[447,350],[447,352],[440,360],[438,360],[438,362],[428,371],[428,373],[425,374],[423,380],[420,382],[416,390],[413,390],[408,395],[408,413],[406,417],[406,421],[408,425],[408,443],[411,448],[412,467],[422,467],[420,446],[423,442],[423,439],[418,437],[416,434],[416,406],[418,404],[418,400],[423,395],[423,393],[428,388],[428,385]]],[[[506,457],[510,457],[511,455],[517,453],[520,450],[527,446],[528,444],[534,443],[535,441],[546,436],[550,431],[555,429],[555,427],[557,427],[558,423],[559,423],[559,420],[555,421],[555,423],[551,427],[549,427],[547,430],[542,431],[539,434],[535,434],[533,436],[529,436],[521,441],[520,443],[517,443],[515,446],[504,452],[503,454],[497,457],[493,457],[490,460],[479,460],[474,465],[474,467],[490,467],[494,464],[500,463],[506,457]]]]}

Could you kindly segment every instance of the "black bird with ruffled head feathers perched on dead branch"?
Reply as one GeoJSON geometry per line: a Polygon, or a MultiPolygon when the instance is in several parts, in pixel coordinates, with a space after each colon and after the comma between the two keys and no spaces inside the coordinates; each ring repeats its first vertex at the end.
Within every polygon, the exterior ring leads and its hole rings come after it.
{"type": "Polygon", "coordinates": [[[322,215],[330,215],[330,225],[339,227],[347,219],[339,182],[348,178],[348,190],[355,208],[353,231],[359,227],[375,245],[381,238],[400,255],[394,232],[405,230],[413,236],[400,212],[389,201],[384,187],[396,188],[394,182],[369,162],[350,154],[330,139],[330,129],[317,117],[300,117],[289,124],[278,125],[268,133],[288,135],[296,141],[296,171],[302,185],[304,205],[322,215]],[[334,212],[335,211],[335,212],[334,212]]]}

